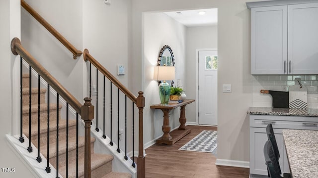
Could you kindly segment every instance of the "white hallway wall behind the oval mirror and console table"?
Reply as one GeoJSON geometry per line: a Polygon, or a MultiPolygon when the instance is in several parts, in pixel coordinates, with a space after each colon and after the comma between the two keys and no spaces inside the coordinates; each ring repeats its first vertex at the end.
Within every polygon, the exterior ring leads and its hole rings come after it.
{"type": "MultiPolygon", "coordinates": [[[[144,69],[146,107],[144,108],[144,140],[152,140],[162,135],[163,113],[150,109],[150,105],[160,103],[158,82],[153,80],[161,47],[169,45],[175,57],[175,79],[185,79],[185,37],[186,28],[164,13],[144,14],[144,69]]],[[[176,80],[175,85],[176,86],[176,80]]],[[[171,129],[179,126],[179,110],[170,112],[171,129]]],[[[145,141],[147,144],[148,141],[145,141]]]]}

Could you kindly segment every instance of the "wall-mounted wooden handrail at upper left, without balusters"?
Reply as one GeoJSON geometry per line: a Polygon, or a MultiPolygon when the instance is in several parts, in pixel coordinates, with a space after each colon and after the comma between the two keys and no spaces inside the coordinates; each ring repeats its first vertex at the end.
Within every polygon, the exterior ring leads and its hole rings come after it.
{"type": "Polygon", "coordinates": [[[82,54],[80,50],[67,41],[55,28],[53,28],[43,17],[40,16],[29,4],[21,0],[21,6],[28,11],[40,24],[42,24],[56,39],[73,53],[73,58],[77,59],[82,54]]]}

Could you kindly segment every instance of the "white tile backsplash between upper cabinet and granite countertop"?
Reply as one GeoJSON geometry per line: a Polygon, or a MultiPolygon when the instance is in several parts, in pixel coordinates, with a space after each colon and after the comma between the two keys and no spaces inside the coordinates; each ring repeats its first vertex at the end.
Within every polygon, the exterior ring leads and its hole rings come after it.
{"type": "Polygon", "coordinates": [[[317,75],[253,75],[252,77],[252,106],[272,107],[270,94],[261,94],[261,89],[282,91],[282,86],[295,85],[295,78],[300,78],[302,85],[307,88],[308,108],[318,109],[318,76],[317,75]]]}

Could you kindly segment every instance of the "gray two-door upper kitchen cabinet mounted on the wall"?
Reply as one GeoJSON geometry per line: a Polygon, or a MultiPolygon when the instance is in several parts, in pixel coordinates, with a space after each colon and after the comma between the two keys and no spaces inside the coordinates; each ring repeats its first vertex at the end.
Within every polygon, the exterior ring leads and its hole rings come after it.
{"type": "Polygon", "coordinates": [[[318,74],[318,3],[264,5],[251,7],[251,74],[318,74]]]}

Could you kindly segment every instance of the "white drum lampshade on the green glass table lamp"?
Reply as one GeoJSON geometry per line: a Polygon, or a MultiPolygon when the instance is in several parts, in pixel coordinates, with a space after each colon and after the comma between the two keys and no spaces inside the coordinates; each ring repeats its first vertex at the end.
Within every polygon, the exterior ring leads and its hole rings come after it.
{"type": "Polygon", "coordinates": [[[166,81],[174,80],[175,70],[174,66],[156,66],[154,72],[154,80],[166,81]]]}

